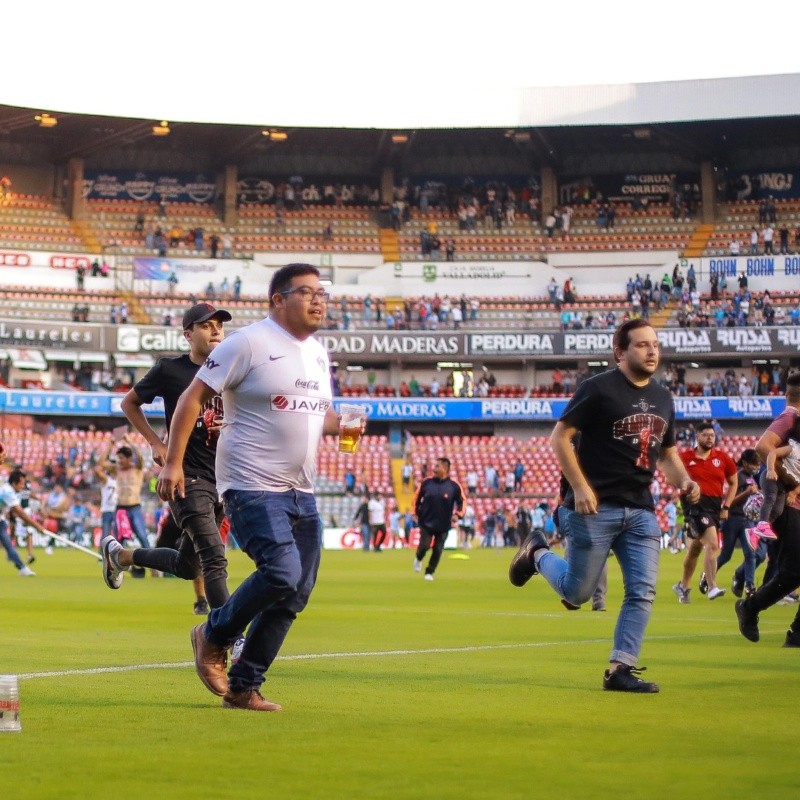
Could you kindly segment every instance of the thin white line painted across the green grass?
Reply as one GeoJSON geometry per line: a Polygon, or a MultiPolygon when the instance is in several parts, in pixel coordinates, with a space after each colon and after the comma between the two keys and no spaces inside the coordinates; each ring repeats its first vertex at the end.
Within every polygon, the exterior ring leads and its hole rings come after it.
{"type": "MultiPolygon", "coordinates": [[[[738,631],[726,633],[703,633],[703,634],[676,634],[674,636],[648,636],[648,642],[664,642],[676,639],[710,639],[721,637],[739,637],[738,631]]],[[[517,644],[487,644],[487,645],[465,645],[463,647],[426,647],[419,650],[364,650],[359,652],[341,653],[298,653],[297,655],[278,656],[278,661],[318,661],[320,659],[339,659],[339,658],[386,658],[395,656],[423,656],[437,655],[443,653],[479,653],[492,650],[525,650],[540,647],[569,647],[584,644],[603,644],[608,643],[609,638],[604,636],[602,639],[565,639],[560,642],[525,642],[517,644]]],[[[89,669],[65,669],[54,670],[52,672],[26,672],[18,675],[20,680],[35,680],[38,678],[63,678],[69,675],[104,675],[117,672],[140,672],[148,669],[185,669],[193,667],[194,661],[177,661],[174,663],[163,664],[128,664],[118,667],[91,667],[89,669]]]]}

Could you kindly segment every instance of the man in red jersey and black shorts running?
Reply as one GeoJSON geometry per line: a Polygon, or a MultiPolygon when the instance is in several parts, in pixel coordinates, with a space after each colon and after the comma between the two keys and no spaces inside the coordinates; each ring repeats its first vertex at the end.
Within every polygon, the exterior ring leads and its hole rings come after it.
{"type": "Polygon", "coordinates": [[[707,593],[709,600],[725,594],[725,590],[717,586],[718,531],[720,522],[728,518],[736,496],[736,464],[724,450],[715,447],[716,443],[714,426],[702,422],[697,426],[697,446],[680,453],[686,471],[700,485],[700,500],[696,504],[684,504],[689,547],[683,560],[683,578],[672,587],[681,603],[689,602],[689,582],[704,548],[705,571],[700,577],[700,593],[707,593]]]}

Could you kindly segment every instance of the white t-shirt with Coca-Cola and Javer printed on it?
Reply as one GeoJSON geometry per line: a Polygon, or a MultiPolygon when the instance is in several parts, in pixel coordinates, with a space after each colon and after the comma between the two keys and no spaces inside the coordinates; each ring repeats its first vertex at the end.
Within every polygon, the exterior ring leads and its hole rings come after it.
{"type": "Polygon", "coordinates": [[[217,491],[314,491],[330,366],[313,338],[300,341],[271,319],[220,342],[197,377],[222,395],[217,491]]]}

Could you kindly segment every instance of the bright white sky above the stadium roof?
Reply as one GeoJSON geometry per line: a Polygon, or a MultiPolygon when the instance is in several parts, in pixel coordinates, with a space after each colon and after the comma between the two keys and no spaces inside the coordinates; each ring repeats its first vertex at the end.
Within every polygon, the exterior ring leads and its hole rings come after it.
{"type": "MultiPolygon", "coordinates": [[[[568,124],[591,121],[588,105],[613,121],[603,112],[630,105],[635,84],[797,74],[796,48],[762,33],[793,32],[798,8],[774,0],[762,18],[710,0],[15,2],[3,9],[0,104],[380,128],[568,124]],[[590,85],[611,86],[558,91],[590,85]],[[550,87],[546,102],[530,110],[538,87],[550,87]],[[581,113],[558,108],[562,95],[581,113]]],[[[787,99],[798,102],[756,89],[734,105],[796,113],[787,99]]],[[[630,121],[653,112],[637,113],[630,121]]]]}

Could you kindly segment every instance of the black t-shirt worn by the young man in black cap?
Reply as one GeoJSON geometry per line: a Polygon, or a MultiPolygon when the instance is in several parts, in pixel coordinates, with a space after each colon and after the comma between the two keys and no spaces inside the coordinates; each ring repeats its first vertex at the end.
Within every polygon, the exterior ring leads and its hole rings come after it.
{"type": "MultiPolygon", "coordinates": [[[[156,397],[164,398],[167,430],[178,405],[178,398],[194,379],[200,364],[192,363],[188,354],[177,358],[162,358],[133,387],[140,400],[152,403],[156,397]]],[[[214,462],[217,457],[217,436],[208,428],[214,417],[222,416],[222,398],[216,395],[200,411],[183,456],[183,473],[187,478],[216,481],[214,462]]]]}

